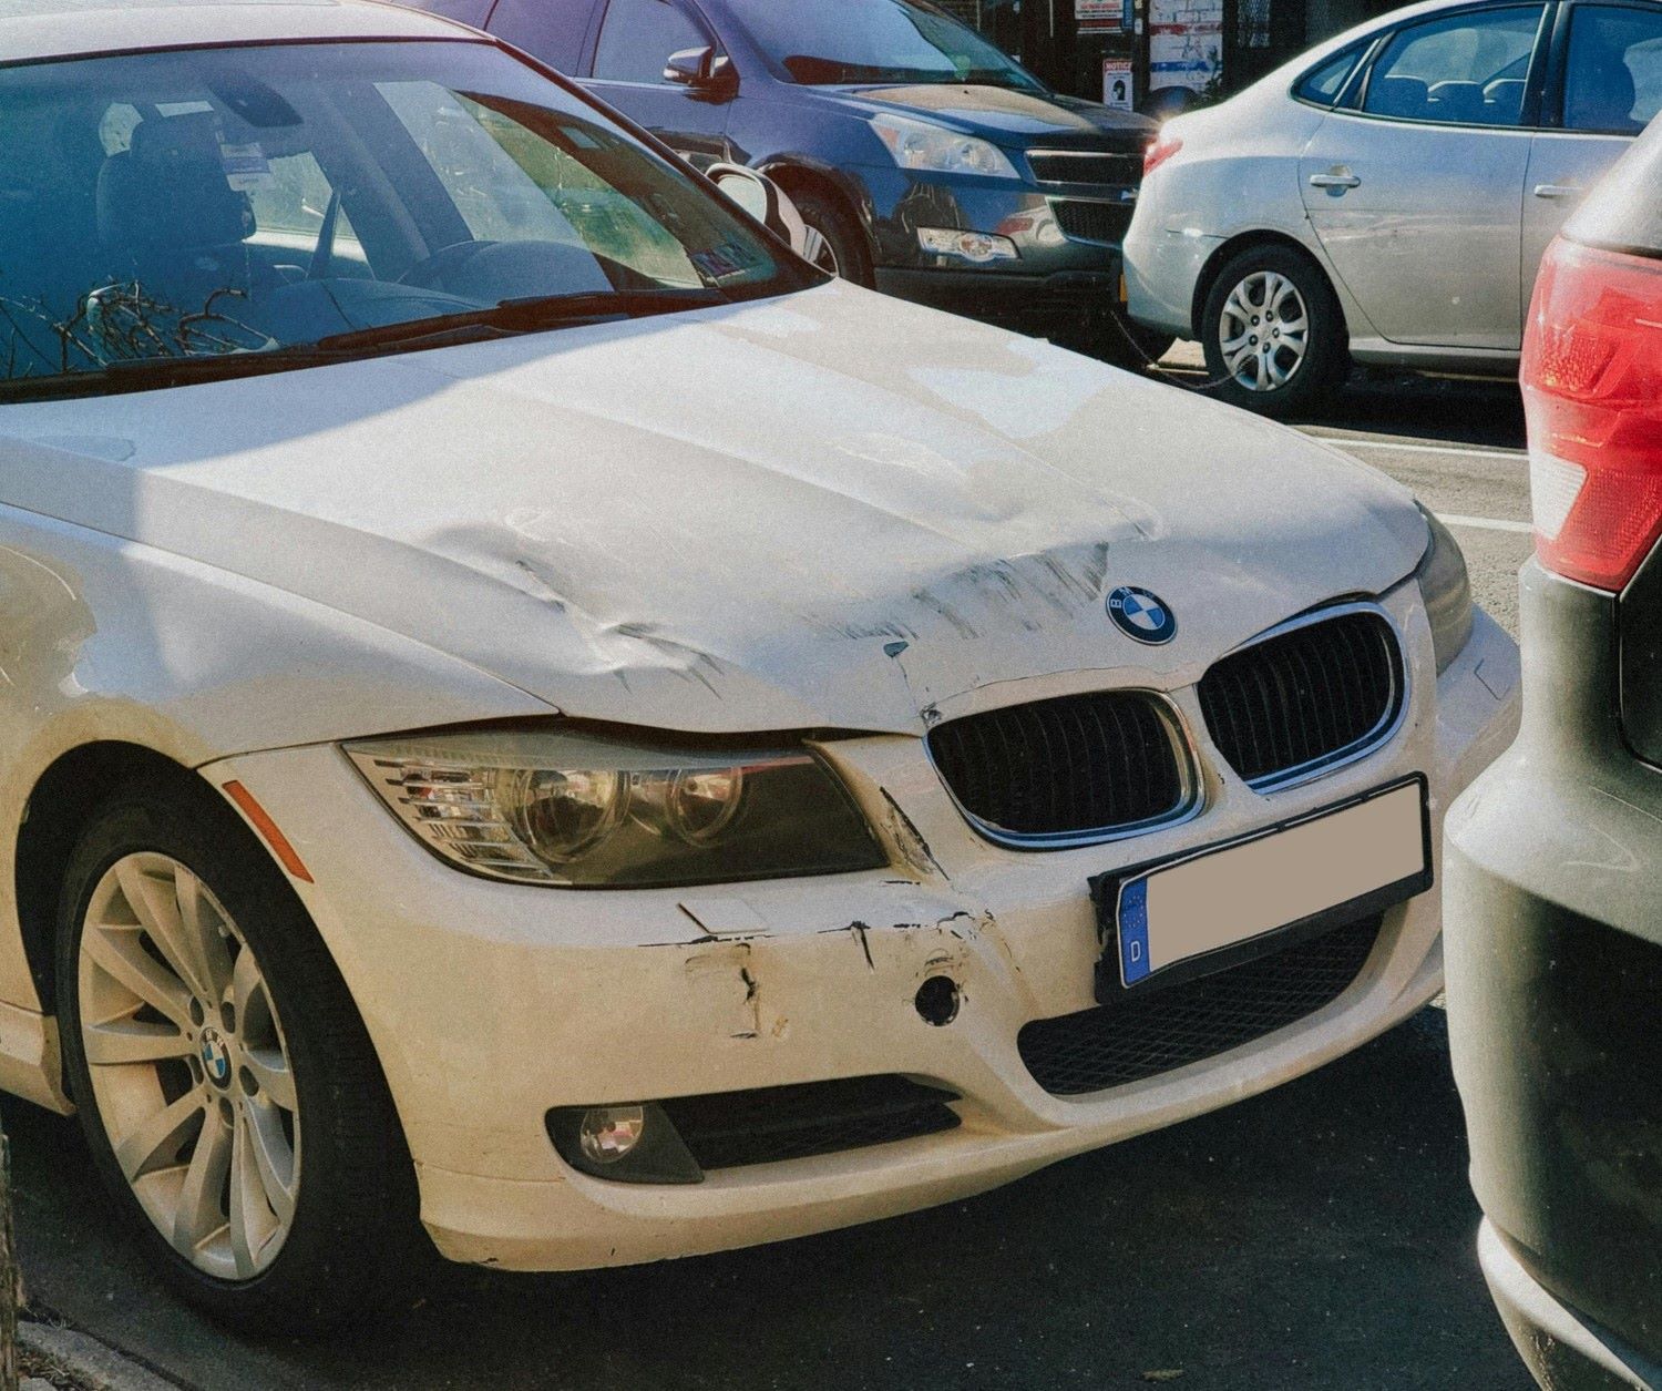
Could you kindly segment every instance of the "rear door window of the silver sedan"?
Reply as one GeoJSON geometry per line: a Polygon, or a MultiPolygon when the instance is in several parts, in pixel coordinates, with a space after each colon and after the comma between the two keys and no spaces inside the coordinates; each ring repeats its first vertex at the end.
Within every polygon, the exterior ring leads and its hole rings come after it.
{"type": "Polygon", "coordinates": [[[1516,126],[1539,30],[1539,5],[1406,25],[1374,60],[1363,110],[1408,121],[1516,126]]]}

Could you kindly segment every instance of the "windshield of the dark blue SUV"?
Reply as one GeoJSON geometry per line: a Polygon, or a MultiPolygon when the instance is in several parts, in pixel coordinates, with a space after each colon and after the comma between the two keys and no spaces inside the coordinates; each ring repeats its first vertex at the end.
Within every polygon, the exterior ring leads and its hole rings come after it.
{"type": "Polygon", "coordinates": [[[972,28],[917,0],[728,0],[728,8],[803,86],[939,81],[1045,91],[972,28]]]}

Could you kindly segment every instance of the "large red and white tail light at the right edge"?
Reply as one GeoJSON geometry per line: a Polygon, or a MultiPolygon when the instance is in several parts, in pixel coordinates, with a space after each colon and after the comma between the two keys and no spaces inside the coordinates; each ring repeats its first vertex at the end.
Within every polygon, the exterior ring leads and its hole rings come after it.
{"type": "Polygon", "coordinates": [[[1522,382],[1536,553],[1620,590],[1662,537],[1662,261],[1552,243],[1522,382]]]}

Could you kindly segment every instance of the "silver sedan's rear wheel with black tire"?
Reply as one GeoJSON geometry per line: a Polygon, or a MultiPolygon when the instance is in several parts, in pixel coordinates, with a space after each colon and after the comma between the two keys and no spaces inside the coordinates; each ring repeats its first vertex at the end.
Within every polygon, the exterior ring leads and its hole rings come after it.
{"type": "Polygon", "coordinates": [[[1261,415],[1310,410],[1350,371],[1345,316],[1333,288],[1288,246],[1253,246],[1223,266],[1200,314],[1200,342],[1207,389],[1261,415]],[[1283,326],[1295,324],[1303,326],[1301,334],[1283,337],[1283,326]]]}

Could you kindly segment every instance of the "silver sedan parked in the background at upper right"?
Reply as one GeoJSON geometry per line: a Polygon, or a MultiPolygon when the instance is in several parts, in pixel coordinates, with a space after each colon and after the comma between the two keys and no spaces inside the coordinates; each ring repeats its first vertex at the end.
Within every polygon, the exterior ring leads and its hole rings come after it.
{"type": "Polygon", "coordinates": [[[1353,361],[1511,374],[1541,253],[1659,108],[1650,0],[1393,10],[1163,126],[1130,311],[1266,414],[1353,361]]]}

